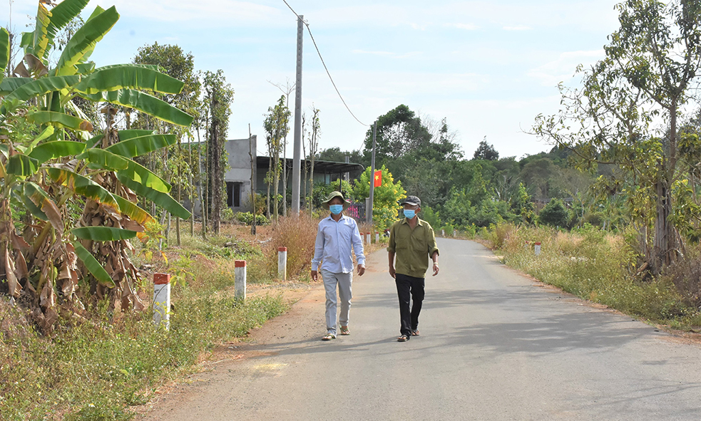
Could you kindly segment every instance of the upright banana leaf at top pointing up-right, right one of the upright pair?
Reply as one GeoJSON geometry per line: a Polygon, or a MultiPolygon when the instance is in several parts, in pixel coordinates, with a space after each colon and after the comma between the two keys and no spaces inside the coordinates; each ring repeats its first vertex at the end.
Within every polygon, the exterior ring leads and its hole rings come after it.
{"type": "Polygon", "coordinates": [[[63,48],[63,53],[56,64],[56,76],[75,74],[76,64],[81,63],[86,53],[95,48],[95,44],[110,31],[118,20],[119,14],[114,6],[92,19],[88,19],[63,48]]]}

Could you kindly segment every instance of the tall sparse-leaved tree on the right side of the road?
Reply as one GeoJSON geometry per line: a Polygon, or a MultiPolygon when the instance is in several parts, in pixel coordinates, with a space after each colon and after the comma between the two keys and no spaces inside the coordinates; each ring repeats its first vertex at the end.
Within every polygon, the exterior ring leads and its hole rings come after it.
{"type": "Polygon", "coordinates": [[[561,86],[563,110],[538,116],[534,132],[575,150],[583,167],[613,163],[628,173],[644,226],[650,204],[647,258],[659,274],[679,251],[670,221],[679,175],[677,116],[701,70],[701,0],[627,0],[616,8],[620,28],[609,37],[606,58],[583,72],[582,90],[561,86]],[[658,132],[650,127],[656,116],[665,121],[658,132]]]}

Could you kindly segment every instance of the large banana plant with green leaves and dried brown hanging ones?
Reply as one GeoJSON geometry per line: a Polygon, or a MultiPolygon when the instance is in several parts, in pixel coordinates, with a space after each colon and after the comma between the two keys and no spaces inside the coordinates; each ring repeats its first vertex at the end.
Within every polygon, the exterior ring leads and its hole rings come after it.
{"type": "Polygon", "coordinates": [[[89,61],[119,19],[114,7],[96,7],[56,65],[48,62],[56,33],[87,4],[63,0],[47,9],[39,1],[36,28],[22,34],[24,58],[13,77],[2,76],[10,47],[0,29],[0,292],[24,299],[47,333],[59,311],[80,311],[86,298],[143,308],[135,291],[140,273],[128,250],[153,217],[138,207],[139,197],[190,217],[170,197],[170,184],[133,160],[175,144],[175,135],[119,130],[112,118],[119,105],[189,126],[192,116],[149,93],[180,93],[183,82],[157,66],[89,61]],[[77,98],[106,103],[106,130],[96,133],[97,122],[77,98]],[[68,212],[70,204],[82,205],[80,217],[68,212]],[[81,280],[91,285],[88,293],[78,289],[81,280]]]}

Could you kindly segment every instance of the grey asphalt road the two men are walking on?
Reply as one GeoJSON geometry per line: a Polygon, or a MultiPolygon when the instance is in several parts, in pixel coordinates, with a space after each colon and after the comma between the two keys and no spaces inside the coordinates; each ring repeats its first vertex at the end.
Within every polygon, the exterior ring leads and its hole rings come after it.
{"type": "Polygon", "coordinates": [[[319,289],[265,343],[153,404],[148,420],[700,420],[701,347],[439,239],[421,336],[399,335],[387,252],[353,283],[351,336],[324,333],[319,289]]]}

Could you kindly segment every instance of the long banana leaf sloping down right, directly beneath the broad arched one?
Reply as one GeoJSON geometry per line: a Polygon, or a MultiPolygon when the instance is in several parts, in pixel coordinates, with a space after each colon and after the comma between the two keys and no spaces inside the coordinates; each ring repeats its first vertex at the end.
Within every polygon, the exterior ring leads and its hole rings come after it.
{"type": "Polygon", "coordinates": [[[92,95],[78,94],[93,101],[108,101],[116,105],[143,111],[167,123],[188,127],[193,123],[193,116],[159,100],[148,93],[133,89],[113,90],[111,92],[95,93],[92,95]]]}

